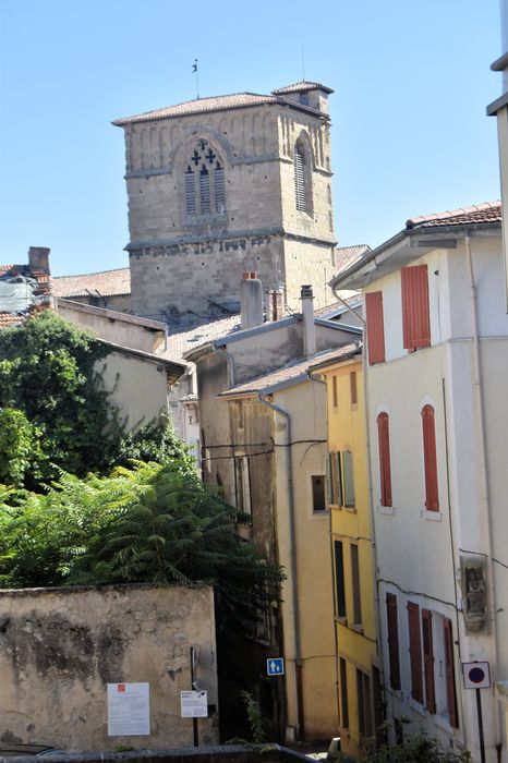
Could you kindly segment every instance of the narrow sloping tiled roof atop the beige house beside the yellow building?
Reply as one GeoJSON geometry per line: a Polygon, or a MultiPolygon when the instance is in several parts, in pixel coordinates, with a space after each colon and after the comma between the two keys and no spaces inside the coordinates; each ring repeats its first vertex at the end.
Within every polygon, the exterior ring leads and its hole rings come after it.
{"type": "Polygon", "coordinates": [[[297,384],[300,380],[303,382],[306,374],[312,371],[314,366],[320,365],[327,361],[331,362],[351,355],[358,352],[359,347],[359,342],[352,342],[344,347],[335,348],[334,350],[325,350],[315,354],[313,358],[306,358],[290,365],[285,365],[269,374],[258,376],[251,382],[245,382],[237,387],[232,387],[221,392],[218,397],[232,398],[243,395],[257,395],[259,392],[266,392],[275,387],[291,386],[291,384],[297,384]]]}

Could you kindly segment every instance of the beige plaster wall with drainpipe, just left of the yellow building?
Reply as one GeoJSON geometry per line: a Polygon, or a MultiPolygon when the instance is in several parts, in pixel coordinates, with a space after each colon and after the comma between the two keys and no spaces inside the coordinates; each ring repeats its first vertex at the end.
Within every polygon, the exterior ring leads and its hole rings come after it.
{"type": "MultiPolygon", "coordinates": [[[[312,475],[326,475],[326,387],[306,382],[274,393],[274,403],[291,415],[295,543],[291,544],[288,500],[288,453],[276,447],[276,533],[279,561],[287,580],[282,588],[288,725],[297,725],[294,598],[291,555],[298,577],[302,659],[303,712],[306,738],[336,736],[337,693],[329,553],[329,512],[313,511],[312,475]]],[[[275,439],[287,441],[287,424],[275,415],[275,439]]]]}

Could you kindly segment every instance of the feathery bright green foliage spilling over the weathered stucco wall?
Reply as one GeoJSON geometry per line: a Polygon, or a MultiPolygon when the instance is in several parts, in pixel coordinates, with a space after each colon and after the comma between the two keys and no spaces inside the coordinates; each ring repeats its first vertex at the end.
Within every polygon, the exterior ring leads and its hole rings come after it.
{"type": "Polygon", "coordinates": [[[0,507],[3,588],[209,580],[241,627],[277,595],[280,570],[237,535],[246,518],[195,472],[141,462],[105,477],[64,474],[46,495],[10,504],[0,507]]]}

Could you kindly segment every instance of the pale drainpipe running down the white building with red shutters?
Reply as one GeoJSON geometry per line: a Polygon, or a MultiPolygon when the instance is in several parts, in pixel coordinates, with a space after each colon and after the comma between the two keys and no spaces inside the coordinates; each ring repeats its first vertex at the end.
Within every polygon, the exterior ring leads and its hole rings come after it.
{"type": "MultiPolygon", "coordinates": [[[[477,328],[477,305],[476,305],[476,288],[474,284],[474,271],[473,271],[473,258],[471,254],[471,237],[469,233],[464,237],[465,245],[465,261],[468,264],[468,275],[471,287],[471,318],[473,322],[473,373],[472,382],[475,392],[475,403],[476,403],[476,421],[479,425],[479,446],[480,446],[480,473],[482,481],[482,493],[483,493],[483,513],[485,519],[485,525],[487,528],[486,533],[486,558],[487,558],[487,570],[488,570],[488,594],[489,594],[489,609],[491,609],[491,620],[492,620],[492,637],[493,637],[493,651],[494,651],[494,664],[497,670],[497,628],[496,628],[496,590],[494,584],[494,564],[492,559],[492,521],[491,521],[491,496],[488,494],[488,465],[487,465],[487,448],[486,448],[486,437],[485,437],[485,411],[483,405],[483,377],[482,377],[482,363],[480,359],[480,337],[477,328]]],[[[501,743],[500,739],[500,704],[497,703],[497,712],[494,712],[494,732],[496,737],[496,748],[501,743]]]]}

